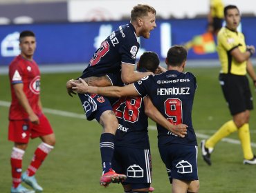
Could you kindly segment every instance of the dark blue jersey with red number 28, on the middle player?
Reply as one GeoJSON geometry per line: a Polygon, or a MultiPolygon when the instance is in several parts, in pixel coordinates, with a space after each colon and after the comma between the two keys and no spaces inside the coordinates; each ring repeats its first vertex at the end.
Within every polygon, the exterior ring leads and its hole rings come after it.
{"type": "MultiPolygon", "coordinates": [[[[107,74],[107,76],[113,85],[123,85],[120,74],[107,74]]],[[[115,145],[149,149],[148,118],[145,114],[143,97],[122,97],[112,106],[119,123],[115,145]]]]}

